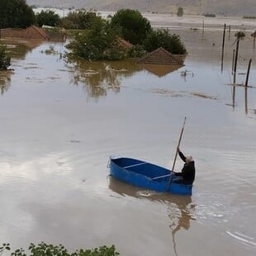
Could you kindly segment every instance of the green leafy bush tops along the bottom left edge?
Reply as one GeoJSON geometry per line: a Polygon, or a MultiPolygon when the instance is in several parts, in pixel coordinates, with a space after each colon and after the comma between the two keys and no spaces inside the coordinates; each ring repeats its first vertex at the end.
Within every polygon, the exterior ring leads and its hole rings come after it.
{"type": "MultiPolygon", "coordinates": [[[[64,245],[53,245],[45,244],[41,242],[40,244],[30,244],[28,250],[30,254],[26,254],[24,249],[16,249],[11,253],[12,256],[116,256],[120,255],[116,252],[114,245],[107,247],[106,245],[100,246],[95,249],[78,249],[74,253],[69,253],[67,249],[64,248],[64,245]]],[[[11,252],[10,244],[2,244],[0,247],[0,255],[11,252]]]]}

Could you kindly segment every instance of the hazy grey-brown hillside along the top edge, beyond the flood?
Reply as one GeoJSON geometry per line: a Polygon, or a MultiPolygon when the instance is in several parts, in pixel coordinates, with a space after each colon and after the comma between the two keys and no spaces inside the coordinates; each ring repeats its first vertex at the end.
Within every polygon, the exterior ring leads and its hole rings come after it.
{"type": "Polygon", "coordinates": [[[99,11],[130,8],[140,12],[176,13],[178,7],[183,7],[185,14],[256,16],[256,0],[26,0],[26,2],[39,7],[95,8],[99,11]]]}

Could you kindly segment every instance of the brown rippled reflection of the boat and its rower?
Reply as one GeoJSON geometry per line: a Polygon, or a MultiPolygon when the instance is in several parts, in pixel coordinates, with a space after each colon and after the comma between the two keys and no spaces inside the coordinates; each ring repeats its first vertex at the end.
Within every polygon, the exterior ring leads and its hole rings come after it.
{"type": "Polygon", "coordinates": [[[179,196],[167,193],[143,191],[139,187],[122,183],[111,176],[108,177],[108,187],[122,197],[130,196],[149,201],[159,201],[167,206],[168,217],[171,220],[169,228],[172,230],[173,250],[178,255],[175,235],[179,230],[189,230],[190,221],[196,220],[193,212],[196,205],[192,203],[191,196],[179,196]]]}

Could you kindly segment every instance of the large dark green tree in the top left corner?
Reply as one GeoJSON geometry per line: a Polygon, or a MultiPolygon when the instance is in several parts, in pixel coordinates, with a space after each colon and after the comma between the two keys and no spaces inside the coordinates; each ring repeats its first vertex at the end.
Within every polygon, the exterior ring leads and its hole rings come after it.
{"type": "Polygon", "coordinates": [[[0,27],[31,26],[35,21],[35,14],[26,0],[1,0],[0,27]]]}

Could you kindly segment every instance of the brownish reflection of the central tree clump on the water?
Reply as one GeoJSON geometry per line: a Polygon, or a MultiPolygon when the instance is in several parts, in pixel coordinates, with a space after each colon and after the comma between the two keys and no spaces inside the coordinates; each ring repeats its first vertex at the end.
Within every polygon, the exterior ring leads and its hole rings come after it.
{"type": "MultiPolygon", "coordinates": [[[[67,65],[69,62],[67,63],[67,65]]],[[[107,90],[120,92],[122,78],[128,78],[141,70],[135,60],[113,62],[76,61],[70,83],[83,84],[90,97],[103,97],[107,90]]]]}

